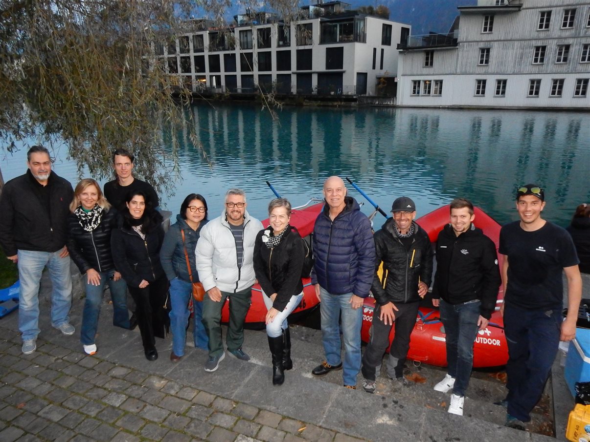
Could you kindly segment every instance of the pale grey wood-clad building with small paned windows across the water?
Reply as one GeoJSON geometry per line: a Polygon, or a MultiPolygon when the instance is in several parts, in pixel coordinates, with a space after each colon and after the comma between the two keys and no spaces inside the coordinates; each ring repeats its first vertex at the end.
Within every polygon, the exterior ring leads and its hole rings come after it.
{"type": "Polygon", "coordinates": [[[397,104],[590,109],[590,1],[478,0],[400,50],[397,104]]]}

